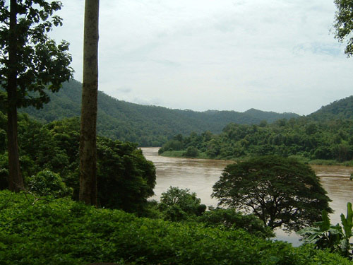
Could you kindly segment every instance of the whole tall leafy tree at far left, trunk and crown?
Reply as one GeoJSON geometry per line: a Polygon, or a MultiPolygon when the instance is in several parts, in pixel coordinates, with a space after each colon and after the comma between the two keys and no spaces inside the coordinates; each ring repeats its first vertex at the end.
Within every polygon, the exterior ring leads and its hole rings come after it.
{"type": "Polygon", "coordinates": [[[46,90],[56,92],[71,78],[68,42],[56,45],[47,33],[62,25],[60,1],[0,0],[0,78],[7,93],[9,189],[23,189],[18,155],[17,109],[41,108],[49,102],[46,90]]]}

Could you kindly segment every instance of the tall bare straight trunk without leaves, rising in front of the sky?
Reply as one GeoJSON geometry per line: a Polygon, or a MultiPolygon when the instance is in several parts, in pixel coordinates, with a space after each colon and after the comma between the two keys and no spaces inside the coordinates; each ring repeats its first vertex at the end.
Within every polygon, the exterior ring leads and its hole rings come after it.
{"type": "Polygon", "coordinates": [[[85,0],[80,125],[80,201],[97,204],[97,94],[99,0],[85,0]]]}

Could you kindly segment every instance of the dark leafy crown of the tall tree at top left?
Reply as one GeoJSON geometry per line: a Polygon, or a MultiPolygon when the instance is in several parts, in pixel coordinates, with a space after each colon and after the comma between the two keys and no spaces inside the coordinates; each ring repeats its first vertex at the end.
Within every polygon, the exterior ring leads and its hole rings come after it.
{"type": "Polygon", "coordinates": [[[16,71],[17,107],[41,108],[49,102],[48,91],[57,92],[61,83],[72,77],[71,54],[68,42],[56,44],[47,33],[62,25],[62,19],[54,12],[62,7],[60,1],[20,0],[9,6],[0,1],[0,76],[1,86],[8,90],[8,72],[16,71]],[[10,28],[11,7],[16,16],[15,28],[10,28]],[[17,19],[18,16],[18,19],[17,19]],[[14,34],[16,61],[11,64],[9,36],[14,34]]]}

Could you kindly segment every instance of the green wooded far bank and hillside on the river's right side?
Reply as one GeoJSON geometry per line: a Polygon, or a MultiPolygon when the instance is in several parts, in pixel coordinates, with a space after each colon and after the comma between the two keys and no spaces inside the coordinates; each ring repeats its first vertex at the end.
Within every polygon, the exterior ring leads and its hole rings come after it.
{"type": "MultiPolygon", "coordinates": [[[[174,136],[159,153],[198,151],[197,157],[244,160],[254,155],[296,156],[310,160],[345,163],[353,158],[353,97],[340,100],[309,117],[280,119],[273,124],[228,124],[221,134],[205,131],[174,136]],[[349,114],[350,113],[350,114],[349,114]],[[349,117],[339,119],[335,117],[349,117]]],[[[321,162],[322,163],[322,162],[321,162]]]]}

